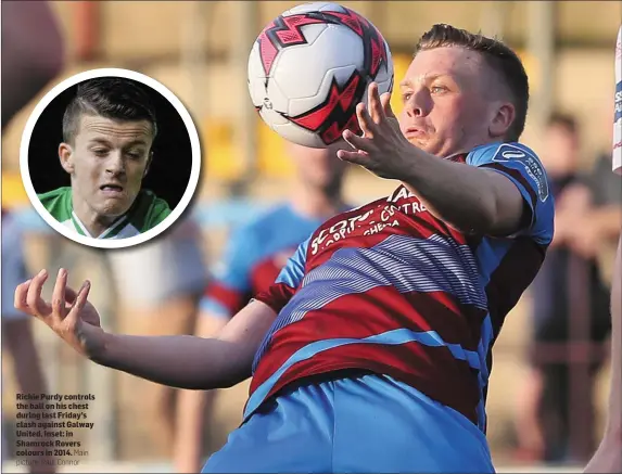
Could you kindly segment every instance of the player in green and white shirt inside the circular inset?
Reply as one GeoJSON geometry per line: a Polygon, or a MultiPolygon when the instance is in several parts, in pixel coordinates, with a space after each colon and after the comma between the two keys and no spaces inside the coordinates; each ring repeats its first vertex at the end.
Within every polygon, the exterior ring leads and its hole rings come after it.
{"type": "Polygon", "coordinates": [[[63,116],[59,157],[72,185],[39,194],[59,222],[93,239],[127,239],[162,222],[168,204],[142,189],[157,133],[144,90],[126,78],[89,79],[63,116]]]}

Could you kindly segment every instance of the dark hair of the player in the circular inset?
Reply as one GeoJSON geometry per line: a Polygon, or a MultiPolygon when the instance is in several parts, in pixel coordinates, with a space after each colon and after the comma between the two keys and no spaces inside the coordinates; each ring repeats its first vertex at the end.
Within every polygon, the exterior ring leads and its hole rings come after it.
{"type": "Polygon", "coordinates": [[[80,82],[63,115],[63,140],[73,142],[82,114],[115,120],[148,120],[157,133],[155,107],[144,86],[123,77],[100,77],[80,82]]]}

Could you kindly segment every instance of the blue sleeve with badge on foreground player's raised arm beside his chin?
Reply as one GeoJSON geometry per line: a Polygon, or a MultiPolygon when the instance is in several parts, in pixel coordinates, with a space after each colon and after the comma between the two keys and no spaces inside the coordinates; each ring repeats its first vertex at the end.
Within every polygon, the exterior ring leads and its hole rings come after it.
{"type": "Polygon", "coordinates": [[[529,235],[542,245],[550,244],[554,198],[544,166],[532,150],[520,143],[480,146],[469,153],[467,164],[500,172],[520,191],[530,216],[513,236],[529,235]]]}

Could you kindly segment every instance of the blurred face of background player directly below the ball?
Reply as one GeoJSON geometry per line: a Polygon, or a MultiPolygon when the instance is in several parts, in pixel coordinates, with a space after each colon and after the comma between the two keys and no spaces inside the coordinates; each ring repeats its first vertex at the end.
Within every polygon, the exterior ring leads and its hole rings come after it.
{"type": "Polygon", "coordinates": [[[327,149],[309,149],[293,143],[288,143],[288,146],[303,183],[325,192],[339,190],[346,164],[337,157],[337,152],[344,148],[343,143],[327,149]]]}

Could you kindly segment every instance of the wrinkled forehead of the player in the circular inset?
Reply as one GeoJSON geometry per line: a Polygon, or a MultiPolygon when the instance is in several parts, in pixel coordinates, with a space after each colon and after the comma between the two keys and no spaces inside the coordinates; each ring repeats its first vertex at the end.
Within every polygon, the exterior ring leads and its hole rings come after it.
{"type": "Polygon", "coordinates": [[[110,141],[113,143],[144,143],[153,140],[152,124],[149,120],[118,120],[101,115],[81,114],[77,137],[87,142],[110,141]]]}

